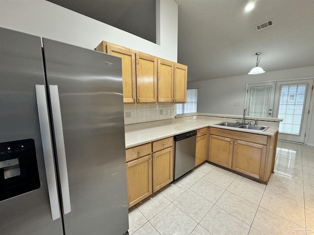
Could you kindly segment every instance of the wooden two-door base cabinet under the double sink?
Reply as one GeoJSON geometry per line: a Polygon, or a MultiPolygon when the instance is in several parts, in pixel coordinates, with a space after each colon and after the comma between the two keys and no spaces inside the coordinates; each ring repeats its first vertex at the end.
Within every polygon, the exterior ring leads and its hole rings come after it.
{"type": "Polygon", "coordinates": [[[209,162],[268,182],[273,171],[278,135],[264,136],[210,128],[209,162]]]}

